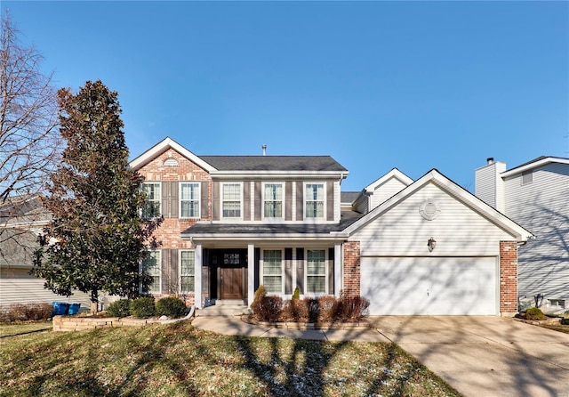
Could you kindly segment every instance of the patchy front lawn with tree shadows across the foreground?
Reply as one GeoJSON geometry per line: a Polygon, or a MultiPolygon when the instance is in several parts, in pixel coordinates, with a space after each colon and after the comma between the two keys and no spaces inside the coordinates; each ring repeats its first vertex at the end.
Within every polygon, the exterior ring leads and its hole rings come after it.
{"type": "Polygon", "coordinates": [[[396,344],[220,336],[186,322],[0,340],[3,396],[457,396],[396,344]]]}

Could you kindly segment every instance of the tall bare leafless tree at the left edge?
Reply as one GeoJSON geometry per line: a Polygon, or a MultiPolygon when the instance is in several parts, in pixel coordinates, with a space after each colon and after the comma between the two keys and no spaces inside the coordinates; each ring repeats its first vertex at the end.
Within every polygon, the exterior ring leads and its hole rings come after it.
{"type": "Polygon", "coordinates": [[[37,198],[60,159],[61,144],[57,92],[52,75],[40,70],[43,57],[20,42],[7,12],[0,28],[0,259],[5,260],[2,253],[28,251],[30,229],[45,221],[37,198]]]}

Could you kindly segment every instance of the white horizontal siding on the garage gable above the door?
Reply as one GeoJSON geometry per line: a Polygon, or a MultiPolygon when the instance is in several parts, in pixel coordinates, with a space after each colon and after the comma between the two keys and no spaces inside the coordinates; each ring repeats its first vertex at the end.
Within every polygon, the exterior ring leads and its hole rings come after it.
{"type": "Polygon", "coordinates": [[[495,256],[500,253],[502,239],[512,236],[434,183],[391,207],[350,237],[360,241],[362,255],[385,256],[495,256]],[[441,210],[432,221],[423,219],[419,212],[426,199],[435,200],[441,210]],[[437,240],[433,253],[427,247],[430,237],[437,240]]]}

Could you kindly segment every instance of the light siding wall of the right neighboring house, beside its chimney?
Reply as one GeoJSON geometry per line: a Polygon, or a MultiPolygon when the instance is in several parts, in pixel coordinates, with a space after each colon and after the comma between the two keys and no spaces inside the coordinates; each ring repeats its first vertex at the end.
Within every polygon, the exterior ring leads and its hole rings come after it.
{"type": "Polygon", "coordinates": [[[569,165],[549,163],[505,180],[506,215],[536,239],[518,249],[518,295],[569,299],[569,165]]]}

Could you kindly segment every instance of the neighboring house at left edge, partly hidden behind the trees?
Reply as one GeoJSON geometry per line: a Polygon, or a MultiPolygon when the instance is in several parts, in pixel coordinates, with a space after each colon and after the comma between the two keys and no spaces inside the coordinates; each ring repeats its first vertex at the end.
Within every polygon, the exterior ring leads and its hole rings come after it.
{"type": "Polygon", "coordinates": [[[37,197],[11,197],[0,207],[0,306],[58,301],[89,307],[84,293],[53,294],[43,279],[29,274],[39,247],[37,236],[50,219],[37,197]]]}

